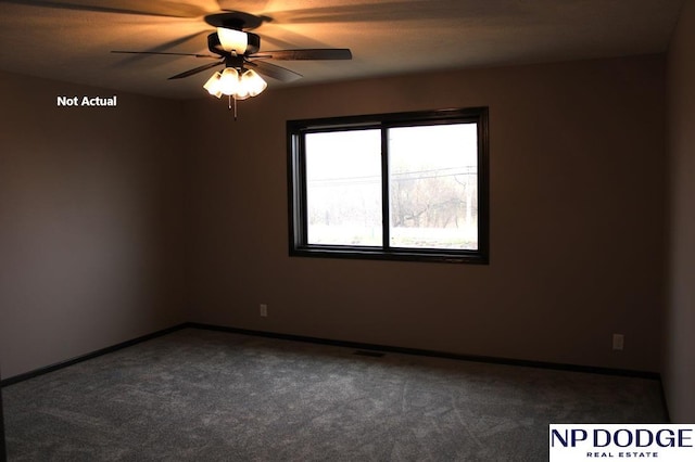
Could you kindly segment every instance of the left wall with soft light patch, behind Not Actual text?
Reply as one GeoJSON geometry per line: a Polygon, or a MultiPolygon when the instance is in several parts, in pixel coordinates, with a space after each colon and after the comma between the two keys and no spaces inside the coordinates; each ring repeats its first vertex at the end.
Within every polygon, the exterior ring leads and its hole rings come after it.
{"type": "Polygon", "coordinates": [[[184,321],[181,104],[0,74],[3,378],[184,321]]]}

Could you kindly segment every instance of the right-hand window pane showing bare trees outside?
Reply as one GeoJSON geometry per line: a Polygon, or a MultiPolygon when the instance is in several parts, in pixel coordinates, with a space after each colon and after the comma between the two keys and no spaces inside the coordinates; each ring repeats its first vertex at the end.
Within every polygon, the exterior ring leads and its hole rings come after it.
{"type": "Polygon", "coordinates": [[[389,130],[390,245],[478,249],[477,124],[389,130]]]}

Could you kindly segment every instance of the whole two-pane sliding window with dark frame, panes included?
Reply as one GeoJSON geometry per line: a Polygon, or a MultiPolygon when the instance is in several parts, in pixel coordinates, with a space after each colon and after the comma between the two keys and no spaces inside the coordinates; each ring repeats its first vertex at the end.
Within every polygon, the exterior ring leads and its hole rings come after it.
{"type": "Polygon", "coordinates": [[[290,120],[290,255],[488,262],[488,108],[290,120]]]}

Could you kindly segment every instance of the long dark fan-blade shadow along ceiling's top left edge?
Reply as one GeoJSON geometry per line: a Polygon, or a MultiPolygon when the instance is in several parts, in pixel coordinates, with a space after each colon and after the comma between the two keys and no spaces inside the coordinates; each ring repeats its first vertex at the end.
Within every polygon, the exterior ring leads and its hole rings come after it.
{"type": "Polygon", "coordinates": [[[99,1],[73,0],[1,0],[4,3],[16,3],[28,7],[55,8],[61,10],[93,11],[98,13],[141,14],[147,16],[166,17],[199,17],[207,13],[206,10],[188,3],[167,0],[109,0],[99,1]],[[94,4],[98,3],[98,4],[94,4]]]}

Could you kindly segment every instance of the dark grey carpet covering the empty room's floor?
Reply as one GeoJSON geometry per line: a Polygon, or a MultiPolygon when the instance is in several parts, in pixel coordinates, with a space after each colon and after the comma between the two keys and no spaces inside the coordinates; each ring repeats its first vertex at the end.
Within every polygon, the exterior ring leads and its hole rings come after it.
{"type": "Polygon", "coordinates": [[[658,381],[181,330],[3,388],[10,461],[546,461],[658,381]]]}

